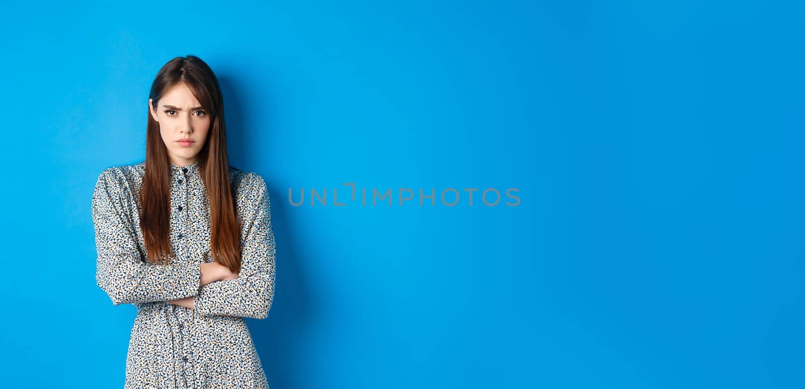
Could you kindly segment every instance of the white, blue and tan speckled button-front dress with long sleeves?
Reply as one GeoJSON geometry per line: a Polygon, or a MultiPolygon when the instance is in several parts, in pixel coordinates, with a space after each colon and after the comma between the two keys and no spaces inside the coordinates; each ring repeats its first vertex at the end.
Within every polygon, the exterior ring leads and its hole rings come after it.
{"type": "Polygon", "coordinates": [[[140,230],[145,162],[101,172],[93,193],[97,285],[137,317],[126,354],[126,388],[268,388],[244,317],[262,319],[274,298],[275,241],[266,183],[229,166],[240,223],[237,279],[200,285],[212,262],[207,191],[198,162],[170,166],[172,263],[151,264],[140,230]],[[193,297],[195,309],[168,300],[193,297]]]}

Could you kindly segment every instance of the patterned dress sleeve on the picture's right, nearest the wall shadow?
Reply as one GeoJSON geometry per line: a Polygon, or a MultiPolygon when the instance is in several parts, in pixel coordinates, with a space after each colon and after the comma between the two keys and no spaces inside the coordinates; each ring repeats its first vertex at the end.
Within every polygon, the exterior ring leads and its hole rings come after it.
{"type": "Polygon", "coordinates": [[[233,280],[204,285],[194,297],[196,313],[264,319],[274,299],[275,241],[266,182],[253,174],[241,235],[241,268],[233,280]]]}

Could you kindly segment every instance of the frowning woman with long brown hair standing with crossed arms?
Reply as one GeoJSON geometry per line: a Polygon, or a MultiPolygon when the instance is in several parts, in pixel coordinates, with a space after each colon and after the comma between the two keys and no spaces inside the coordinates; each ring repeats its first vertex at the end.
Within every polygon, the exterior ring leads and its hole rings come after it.
{"type": "Polygon", "coordinates": [[[98,177],[97,285],[137,317],[125,387],[268,387],[244,317],[274,298],[266,183],[229,166],[213,71],[171,59],[148,99],[145,161],[98,177]]]}

